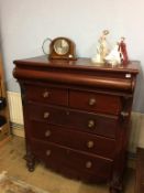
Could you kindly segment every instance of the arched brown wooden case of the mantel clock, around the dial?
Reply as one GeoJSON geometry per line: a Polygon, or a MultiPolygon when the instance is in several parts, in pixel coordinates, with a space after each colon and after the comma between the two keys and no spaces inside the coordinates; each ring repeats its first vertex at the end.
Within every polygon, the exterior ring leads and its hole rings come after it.
{"type": "Polygon", "coordinates": [[[49,60],[77,60],[76,57],[76,45],[75,43],[67,39],[67,37],[56,37],[54,39],[51,44],[49,44],[49,55],[48,55],[48,58],[49,60]],[[66,41],[67,44],[68,44],[68,51],[64,54],[58,54],[56,51],[55,51],[55,44],[57,41],[66,41]]]}

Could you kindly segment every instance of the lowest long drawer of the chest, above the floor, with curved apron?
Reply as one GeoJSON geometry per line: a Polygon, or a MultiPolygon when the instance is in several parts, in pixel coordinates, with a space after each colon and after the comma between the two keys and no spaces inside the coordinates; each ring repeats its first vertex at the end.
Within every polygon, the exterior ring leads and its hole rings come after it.
{"type": "Polygon", "coordinates": [[[88,154],[87,152],[68,149],[52,142],[31,141],[35,157],[48,168],[70,178],[98,182],[110,179],[112,160],[88,154]]]}

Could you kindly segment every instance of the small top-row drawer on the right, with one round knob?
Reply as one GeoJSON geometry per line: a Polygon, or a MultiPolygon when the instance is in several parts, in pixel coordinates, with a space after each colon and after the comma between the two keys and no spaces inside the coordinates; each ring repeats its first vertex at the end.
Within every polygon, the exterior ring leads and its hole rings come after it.
{"type": "Polygon", "coordinates": [[[122,109],[120,96],[92,92],[70,90],[69,106],[71,108],[111,115],[119,115],[122,109]]]}

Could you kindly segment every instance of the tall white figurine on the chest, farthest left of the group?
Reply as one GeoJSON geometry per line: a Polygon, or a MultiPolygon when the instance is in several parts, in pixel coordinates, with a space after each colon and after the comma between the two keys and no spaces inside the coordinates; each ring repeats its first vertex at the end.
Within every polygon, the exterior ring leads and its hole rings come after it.
{"type": "Polygon", "coordinates": [[[91,58],[93,63],[104,63],[104,57],[109,54],[109,47],[107,42],[107,35],[109,34],[108,30],[102,31],[102,35],[100,36],[97,46],[97,54],[91,58]]]}

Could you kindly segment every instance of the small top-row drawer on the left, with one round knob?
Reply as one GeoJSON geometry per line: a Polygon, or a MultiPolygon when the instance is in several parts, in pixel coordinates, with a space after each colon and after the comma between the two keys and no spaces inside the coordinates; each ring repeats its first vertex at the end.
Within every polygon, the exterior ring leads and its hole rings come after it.
{"type": "Polygon", "coordinates": [[[62,106],[68,105],[67,89],[34,85],[25,85],[25,89],[29,100],[62,106]]]}

